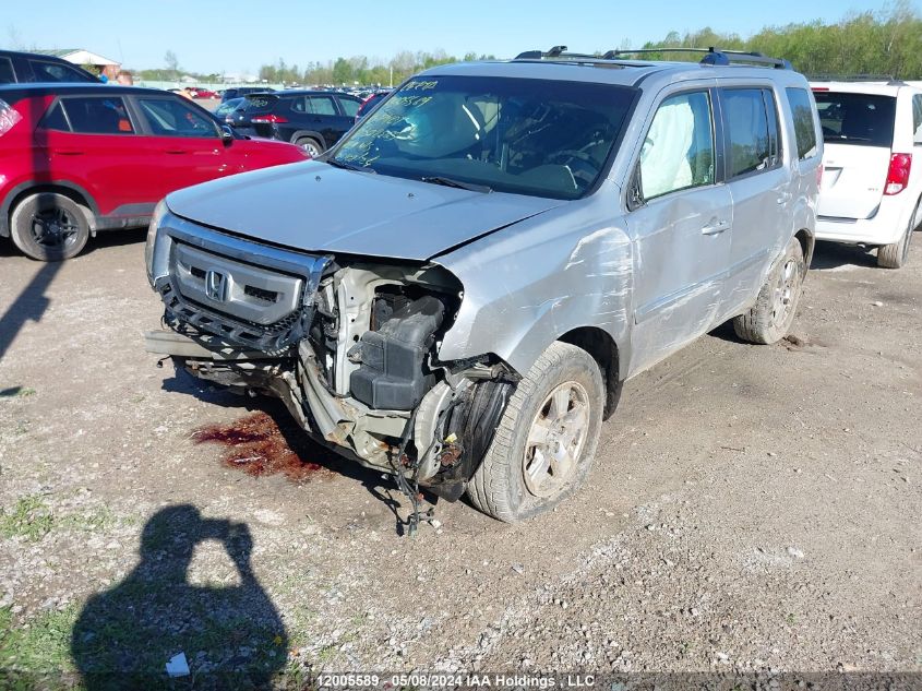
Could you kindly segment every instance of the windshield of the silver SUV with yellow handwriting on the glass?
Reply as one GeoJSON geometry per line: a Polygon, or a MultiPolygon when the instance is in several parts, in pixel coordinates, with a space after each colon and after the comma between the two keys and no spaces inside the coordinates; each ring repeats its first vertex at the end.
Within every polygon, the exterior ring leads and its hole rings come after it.
{"type": "Polygon", "coordinates": [[[635,90],[531,79],[417,78],[333,160],[453,187],[577,199],[604,168],[635,90]]]}

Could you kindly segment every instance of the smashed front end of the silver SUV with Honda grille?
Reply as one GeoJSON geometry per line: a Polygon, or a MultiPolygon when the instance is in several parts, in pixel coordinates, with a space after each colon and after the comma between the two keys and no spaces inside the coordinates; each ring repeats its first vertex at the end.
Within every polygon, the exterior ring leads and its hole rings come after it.
{"type": "Polygon", "coordinates": [[[168,330],[147,349],[193,376],[280,397],[315,439],[455,500],[490,445],[517,374],[491,355],[439,360],[464,298],[434,263],[308,254],[158,207],[151,285],[168,330]]]}

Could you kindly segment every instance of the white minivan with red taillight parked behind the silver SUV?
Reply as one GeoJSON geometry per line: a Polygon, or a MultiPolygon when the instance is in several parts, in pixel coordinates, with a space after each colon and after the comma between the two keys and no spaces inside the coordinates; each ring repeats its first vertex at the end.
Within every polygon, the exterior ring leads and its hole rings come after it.
{"type": "Polygon", "coordinates": [[[899,269],[922,222],[922,92],[900,81],[812,82],[826,144],[816,238],[877,247],[899,269]]]}

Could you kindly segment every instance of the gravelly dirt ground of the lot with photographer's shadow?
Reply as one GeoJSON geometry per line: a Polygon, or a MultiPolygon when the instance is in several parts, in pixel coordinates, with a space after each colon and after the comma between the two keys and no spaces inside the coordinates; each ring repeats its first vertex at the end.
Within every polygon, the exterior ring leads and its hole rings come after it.
{"type": "Polygon", "coordinates": [[[922,672],[922,242],[821,246],[795,337],[630,381],[556,511],[410,539],[274,402],[158,369],[143,240],[0,243],[0,669],[922,672]]]}

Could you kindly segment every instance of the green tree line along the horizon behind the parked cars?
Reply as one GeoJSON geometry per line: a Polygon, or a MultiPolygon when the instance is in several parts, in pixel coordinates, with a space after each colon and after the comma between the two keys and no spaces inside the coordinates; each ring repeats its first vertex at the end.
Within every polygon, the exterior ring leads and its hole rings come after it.
{"type": "MultiPolygon", "coordinates": [[[[898,0],[879,11],[851,13],[838,22],[822,20],[803,24],[767,26],[758,33],[743,38],[739,34],[718,33],[710,27],[680,34],[670,32],[661,40],[651,40],[639,48],[659,50],[663,48],[708,48],[716,46],[728,50],[763,52],[776,58],[786,58],[794,69],[810,76],[896,76],[922,79],[922,15],[908,1],[898,0]]],[[[619,46],[638,48],[630,40],[619,46]]],[[[596,51],[601,56],[608,49],[596,51]]],[[[511,56],[510,56],[511,57],[511,56]]],[[[661,52],[644,56],[650,59],[698,60],[694,53],[661,52]]],[[[450,56],[444,50],[433,52],[403,50],[390,60],[374,60],[366,56],[336,58],[327,62],[310,62],[299,67],[279,59],[274,64],[259,69],[260,80],[285,84],[327,84],[348,86],[399,84],[408,76],[439,64],[458,61],[492,60],[492,55],[468,52],[450,56]]],[[[142,70],[142,79],[176,79],[180,68],[176,55],[168,51],[166,69],[142,70]],[[169,75],[169,76],[168,76],[169,75]]],[[[195,74],[208,81],[217,81],[218,74],[195,74]]]]}

